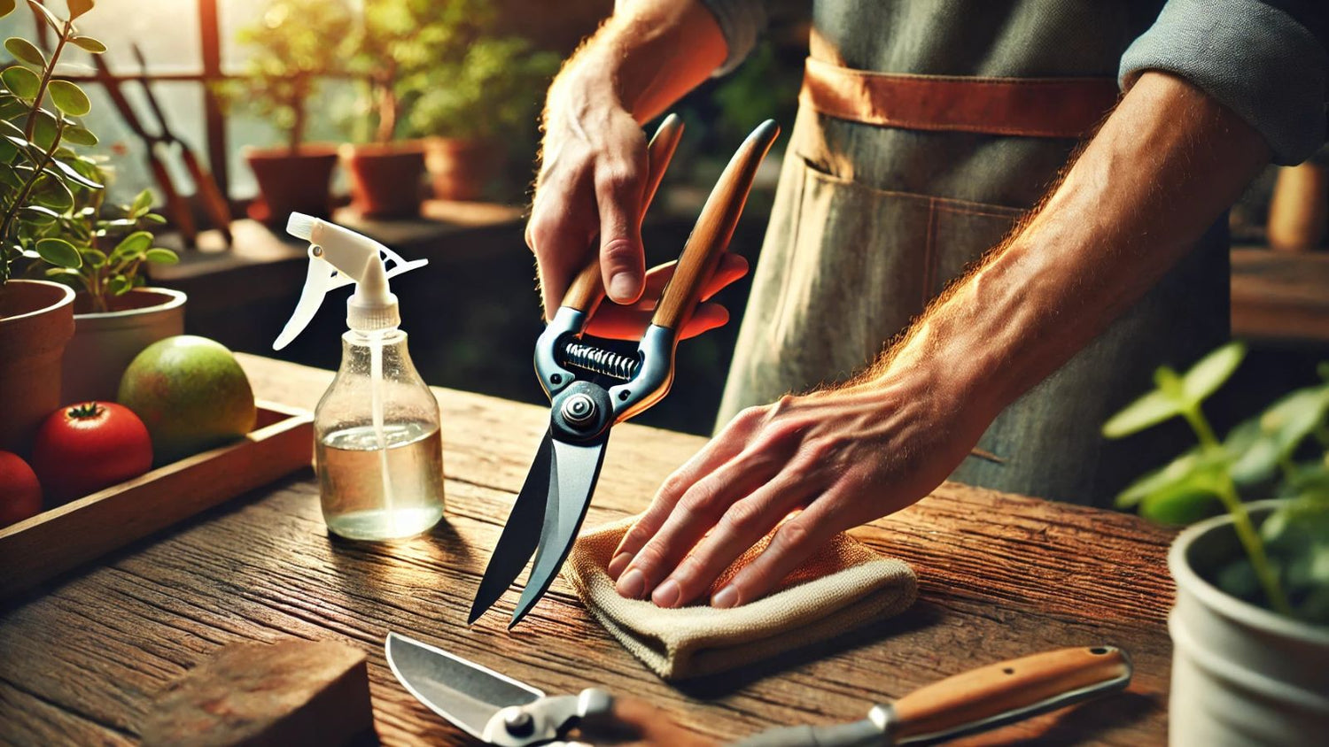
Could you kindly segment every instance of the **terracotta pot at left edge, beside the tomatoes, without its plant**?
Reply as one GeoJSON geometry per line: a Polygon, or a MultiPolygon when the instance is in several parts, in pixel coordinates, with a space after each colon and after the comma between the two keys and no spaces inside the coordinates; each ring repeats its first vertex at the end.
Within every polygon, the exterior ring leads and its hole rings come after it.
{"type": "Polygon", "coordinates": [[[60,402],[60,357],[74,333],[74,292],[45,280],[0,288],[0,448],[28,455],[60,402]]]}

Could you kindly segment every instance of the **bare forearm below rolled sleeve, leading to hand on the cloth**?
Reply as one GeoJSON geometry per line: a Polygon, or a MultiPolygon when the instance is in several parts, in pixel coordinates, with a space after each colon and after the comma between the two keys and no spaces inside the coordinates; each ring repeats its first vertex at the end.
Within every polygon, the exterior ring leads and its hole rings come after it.
{"type": "Polygon", "coordinates": [[[1146,73],[1031,220],[860,383],[922,374],[985,427],[1154,285],[1268,159],[1236,114],[1146,73]]]}

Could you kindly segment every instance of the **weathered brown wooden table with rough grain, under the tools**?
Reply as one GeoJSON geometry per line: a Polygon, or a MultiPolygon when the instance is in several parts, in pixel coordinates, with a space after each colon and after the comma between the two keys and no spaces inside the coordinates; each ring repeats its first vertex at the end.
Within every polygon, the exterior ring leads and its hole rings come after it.
{"type": "MultiPolygon", "coordinates": [[[[307,407],[331,377],[250,356],[242,362],[259,397],[307,407]]],[[[638,695],[698,734],[726,739],[855,720],[876,701],[977,665],[1108,642],[1135,661],[1128,693],[982,743],[1166,739],[1171,533],[1132,516],[953,483],[855,531],[914,567],[921,593],[910,610],[718,681],[661,682],[562,578],[514,632],[505,628],[512,593],[468,629],[472,594],[548,410],[452,390],[439,390],[439,399],[448,515],[425,537],[391,545],[330,539],[312,474],[299,472],[0,610],[0,742],[132,742],[154,694],[223,644],[295,636],[346,641],[369,655],[384,743],[465,743],[393,679],[383,657],[389,630],[548,693],[595,685],[638,695]]],[[[642,509],[702,443],[615,429],[587,525],[642,509]]]]}

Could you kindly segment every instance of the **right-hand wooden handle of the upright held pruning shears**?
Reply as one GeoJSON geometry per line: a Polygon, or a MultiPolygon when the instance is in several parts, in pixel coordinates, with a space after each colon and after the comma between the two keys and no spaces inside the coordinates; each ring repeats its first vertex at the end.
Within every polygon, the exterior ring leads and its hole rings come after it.
{"type": "Polygon", "coordinates": [[[651,324],[676,332],[692,317],[702,297],[702,287],[715,272],[720,255],[728,248],[734,236],[734,227],[743,215],[743,206],[747,204],[758,166],[779,135],[780,126],[767,119],[752,130],[730,159],[730,165],[724,167],[719,182],[711,190],[711,196],[706,198],[702,215],[698,216],[696,226],[683,245],[683,253],[674,268],[674,277],[661,295],[651,324]]]}

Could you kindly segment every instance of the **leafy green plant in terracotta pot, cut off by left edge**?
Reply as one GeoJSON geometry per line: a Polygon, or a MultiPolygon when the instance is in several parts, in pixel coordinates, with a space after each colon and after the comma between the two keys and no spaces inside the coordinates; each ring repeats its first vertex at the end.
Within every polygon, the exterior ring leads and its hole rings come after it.
{"type": "MultiPolygon", "coordinates": [[[[0,0],[0,16],[15,5],[0,0]]],[[[69,147],[97,142],[77,119],[90,109],[88,96],[52,80],[69,45],[105,50],[74,28],[93,3],[68,0],[66,19],[40,3],[29,7],[53,29],[54,49],[48,58],[31,41],[8,38],[5,50],[17,64],[0,72],[0,448],[19,452],[27,452],[36,426],[60,406],[60,358],[74,330],[74,293],[12,275],[24,259],[73,261],[73,245],[49,235],[49,226],[73,208],[76,195],[102,188],[92,163],[69,147]],[[51,109],[43,106],[48,98],[51,109]]]]}

